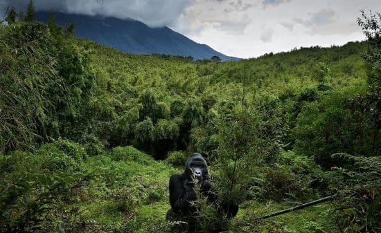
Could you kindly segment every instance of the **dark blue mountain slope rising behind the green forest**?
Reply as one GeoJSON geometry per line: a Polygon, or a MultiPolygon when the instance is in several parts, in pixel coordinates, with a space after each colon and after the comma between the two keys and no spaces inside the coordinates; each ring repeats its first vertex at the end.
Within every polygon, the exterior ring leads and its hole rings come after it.
{"type": "MultiPolygon", "coordinates": [[[[49,12],[37,12],[37,20],[47,22],[49,12]]],[[[218,53],[206,44],[195,41],[168,27],[150,28],[140,21],[54,12],[57,24],[76,22],[76,36],[92,39],[99,44],[117,48],[127,53],[192,56],[210,59],[218,56],[222,61],[239,60],[218,53]]]]}

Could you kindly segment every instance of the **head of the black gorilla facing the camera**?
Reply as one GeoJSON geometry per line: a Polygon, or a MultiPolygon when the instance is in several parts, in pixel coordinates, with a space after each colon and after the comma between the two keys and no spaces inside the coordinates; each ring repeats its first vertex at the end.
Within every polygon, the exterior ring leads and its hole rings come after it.
{"type": "Polygon", "coordinates": [[[186,160],[185,174],[189,180],[197,178],[198,181],[201,181],[209,178],[208,165],[200,153],[190,154],[186,160]]]}

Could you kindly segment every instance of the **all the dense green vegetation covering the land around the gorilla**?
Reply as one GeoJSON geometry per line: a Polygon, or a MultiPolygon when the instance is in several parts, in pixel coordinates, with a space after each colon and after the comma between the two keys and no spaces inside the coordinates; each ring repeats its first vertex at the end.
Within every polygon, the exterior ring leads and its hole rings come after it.
{"type": "Polygon", "coordinates": [[[53,17],[1,26],[0,232],[168,232],[194,151],[240,204],[227,221],[201,201],[198,232],[380,232],[378,17],[368,41],[240,62],[121,53],[53,17]]]}

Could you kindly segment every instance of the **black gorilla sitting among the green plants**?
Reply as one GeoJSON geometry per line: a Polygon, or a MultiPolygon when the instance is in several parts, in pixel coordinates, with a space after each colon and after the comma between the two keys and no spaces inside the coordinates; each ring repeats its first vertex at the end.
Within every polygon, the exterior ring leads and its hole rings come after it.
{"type": "MultiPolygon", "coordinates": [[[[209,179],[208,165],[206,165],[206,160],[200,153],[190,154],[188,160],[186,160],[184,172],[170,176],[169,199],[172,208],[167,212],[168,220],[195,214],[197,209],[191,204],[192,201],[197,200],[195,185],[200,185],[200,194],[205,195],[210,203],[216,203],[217,194],[215,194],[209,179]]],[[[238,205],[222,203],[219,210],[232,218],[238,212],[238,205]]]]}

